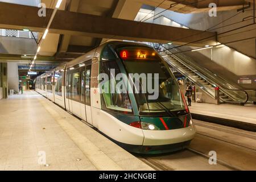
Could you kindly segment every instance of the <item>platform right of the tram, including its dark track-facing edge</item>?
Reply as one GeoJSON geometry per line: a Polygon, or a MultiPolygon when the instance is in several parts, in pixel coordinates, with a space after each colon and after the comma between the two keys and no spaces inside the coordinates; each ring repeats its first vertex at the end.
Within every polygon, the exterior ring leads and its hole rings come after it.
{"type": "MultiPolygon", "coordinates": [[[[224,122],[232,122],[232,126],[236,127],[254,127],[256,129],[256,105],[231,105],[231,104],[207,104],[192,102],[189,107],[192,116],[212,117],[213,119],[221,119],[224,122]]],[[[199,118],[197,118],[199,119],[199,118]]],[[[221,123],[220,123],[221,124],[221,123]]],[[[229,126],[229,125],[228,125],[229,126]]],[[[241,128],[245,129],[245,128],[241,128]]]]}

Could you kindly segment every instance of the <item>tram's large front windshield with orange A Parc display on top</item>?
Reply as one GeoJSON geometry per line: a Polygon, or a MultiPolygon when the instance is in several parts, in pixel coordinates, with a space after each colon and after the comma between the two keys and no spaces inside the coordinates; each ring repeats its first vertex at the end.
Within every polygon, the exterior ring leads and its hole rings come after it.
{"type": "Polygon", "coordinates": [[[127,74],[133,74],[133,93],[141,115],[177,113],[175,111],[185,110],[184,97],[175,77],[154,49],[125,47],[118,52],[127,74]]]}

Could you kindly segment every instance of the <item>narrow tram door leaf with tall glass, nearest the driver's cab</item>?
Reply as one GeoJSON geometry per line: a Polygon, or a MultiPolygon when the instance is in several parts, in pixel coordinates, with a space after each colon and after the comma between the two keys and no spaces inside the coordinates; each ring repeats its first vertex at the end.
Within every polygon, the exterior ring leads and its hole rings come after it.
{"type": "Polygon", "coordinates": [[[86,120],[92,125],[92,109],[90,104],[90,76],[92,71],[92,65],[86,65],[85,67],[85,112],[86,120]]]}

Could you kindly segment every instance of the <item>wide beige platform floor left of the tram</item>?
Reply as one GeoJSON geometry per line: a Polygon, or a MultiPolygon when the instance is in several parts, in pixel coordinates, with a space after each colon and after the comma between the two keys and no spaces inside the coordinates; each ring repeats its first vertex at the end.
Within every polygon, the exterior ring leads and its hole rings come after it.
{"type": "Polygon", "coordinates": [[[34,91],[1,100],[0,118],[0,171],[153,170],[34,91]]]}

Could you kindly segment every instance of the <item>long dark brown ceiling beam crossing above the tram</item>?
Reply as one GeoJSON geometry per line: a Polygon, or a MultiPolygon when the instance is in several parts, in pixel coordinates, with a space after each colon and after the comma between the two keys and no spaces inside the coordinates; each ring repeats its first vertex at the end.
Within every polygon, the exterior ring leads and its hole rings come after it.
{"type": "MultiPolygon", "coordinates": [[[[0,3],[0,28],[23,29],[43,32],[45,20],[50,16],[39,17],[38,7],[0,3]]],[[[47,10],[47,13],[49,11],[47,10]]],[[[151,23],[138,23],[131,20],[103,16],[57,11],[49,28],[53,34],[91,36],[94,38],[113,38],[145,42],[184,44],[208,39],[215,42],[215,32],[204,32],[151,23]]],[[[204,45],[205,41],[193,45],[204,45]],[[204,42],[204,43],[203,43],[204,42]]],[[[191,44],[192,45],[192,44],[191,44]]]]}

